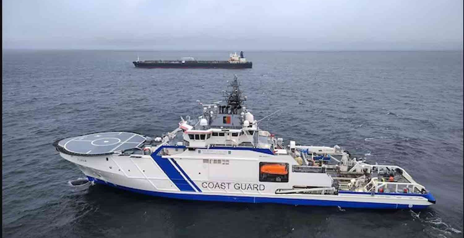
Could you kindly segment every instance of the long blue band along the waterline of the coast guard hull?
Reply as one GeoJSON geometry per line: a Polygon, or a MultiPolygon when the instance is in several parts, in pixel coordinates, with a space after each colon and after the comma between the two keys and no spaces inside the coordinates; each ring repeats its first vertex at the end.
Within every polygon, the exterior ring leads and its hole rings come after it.
{"type": "MultiPolygon", "coordinates": [[[[89,181],[95,181],[97,184],[109,185],[130,192],[137,192],[151,196],[164,198],[177,198],[187,200],[201,201],[219,201],[219,202],[240,202],[240,203],[279,203],[289,205],[312,205],[312,206],[340,206],[352,208],[372,208],[372,209],[410,209],[408,205],[402,204],[386,204],[386,203],[366,203],[366,202],[348,202],[348,201],[329,201],[329,200],[312,200],[312,199],[296,199],[296,198],[257,198],[257,197],[242,197],[242,196],[224,196],[224,195],[204,195],[204,194],[181,194],[170,192],[153,192],[140,190],[135,188],[124,187],[105,182],[100,179],[94,179],[87,176],[89,181]]],[[[413,205],[412,209],[424,209],[427,205],[413,205]]]]}

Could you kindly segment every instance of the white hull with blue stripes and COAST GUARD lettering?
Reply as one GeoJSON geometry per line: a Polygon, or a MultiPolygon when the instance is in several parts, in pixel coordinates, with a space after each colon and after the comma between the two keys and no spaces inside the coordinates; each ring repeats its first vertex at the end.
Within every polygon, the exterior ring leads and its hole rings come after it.
{"type": "MultiPolygon", "coordinates": [[[[215,150],[215,152],[219,154],[219,152],[223,151],[215,150]]],[[[238,152],[240,153],[240,151],[238,152]]],[[[256,153],[246,151],[240,154],[256,156],[256,153]]],[[[203,165],[203,161],[198,159],[159,158],[159,161],[164,163],[164,165],[160,165],[160,162],[157,162],[152,157],[154,155],[85,157],[65,153],[60,154],[64,159],[76,164],[87,178],[94,181],[94,183],[166,198],[375,209],[423,209],[432,205],[428,198],[429,194],[372,194],[348,191],[340,191],[336,195],[276,194],[277,189],[284,188],[288,184],[259,182],[258,179],[243,180],[237,179],[238,177],[219,180],[214,175],[214,172],[209,172],[208,167],[210,164],[205,163],[203,165]],[[197,166],[194,164],[197,164],[197,166]]],[[[215,157],[217,157],[217,154],[215,157]]],[[[206,155],[205,158],[209,159],[211,156],[206,155]]],[[[230,162],[230,165],[232,163],[230,162]]],[[[230,169],[229,167],[229,174],[231,173],[230,169]]],[[[250,177],[244,174],[246,171],[237,172],[242,178],[250,177]]],[[[290,174],[290,178],[292,177],[294,176],[290,174]]]]}

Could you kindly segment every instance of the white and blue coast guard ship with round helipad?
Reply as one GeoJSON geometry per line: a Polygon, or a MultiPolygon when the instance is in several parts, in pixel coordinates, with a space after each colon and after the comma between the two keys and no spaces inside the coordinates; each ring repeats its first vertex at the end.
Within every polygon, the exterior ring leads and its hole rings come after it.
{"type": "Polygon", "coordinates": [[[259,127],[235,77],[198,119],[155,139],[99,132],[59,139],[59,154],[92,184],[204,201],[422,209],[432,194],[399,166],[371,165],[340,146],[284,143],[259,127]]]}

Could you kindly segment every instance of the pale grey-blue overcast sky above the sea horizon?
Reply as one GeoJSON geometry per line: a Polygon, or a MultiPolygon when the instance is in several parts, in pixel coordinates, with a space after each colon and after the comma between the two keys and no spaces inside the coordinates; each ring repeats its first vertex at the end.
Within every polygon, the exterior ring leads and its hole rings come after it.
{"type": "Polygon", "coordinates": [[[463,49],[463,0],[2,0],[3,48],[463,49]]]}

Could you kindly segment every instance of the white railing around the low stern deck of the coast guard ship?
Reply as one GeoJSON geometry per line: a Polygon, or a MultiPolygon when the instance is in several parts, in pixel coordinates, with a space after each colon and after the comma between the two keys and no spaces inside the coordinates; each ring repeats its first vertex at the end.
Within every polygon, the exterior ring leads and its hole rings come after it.
{"type": "Polygon", "coordinates": [[[417,183],[379,182],[378,178],[372,178],[371,181],[364,186],[363,190],[365,192],[378,193],[380,188],[382,188],[385,193],[420,194],[425,191],[425,187],[417,183]]]}

